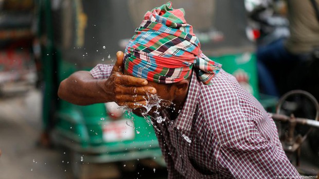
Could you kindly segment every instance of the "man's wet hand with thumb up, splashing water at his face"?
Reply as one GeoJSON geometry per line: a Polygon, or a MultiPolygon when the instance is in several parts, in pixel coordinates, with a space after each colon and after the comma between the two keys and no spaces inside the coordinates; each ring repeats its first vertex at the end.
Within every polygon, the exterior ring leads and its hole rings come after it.
{"type": "Polygon", "coordinates": [[[138,104],[146,104],[147,93],[156,94],[156,89],[147,86],[146,79],[123,74],[123,52],[116,53],[117,61],[111,76],[104,83],[105,93],[118,105],[127,105],[131,109],[141,108],[138,104]]]}

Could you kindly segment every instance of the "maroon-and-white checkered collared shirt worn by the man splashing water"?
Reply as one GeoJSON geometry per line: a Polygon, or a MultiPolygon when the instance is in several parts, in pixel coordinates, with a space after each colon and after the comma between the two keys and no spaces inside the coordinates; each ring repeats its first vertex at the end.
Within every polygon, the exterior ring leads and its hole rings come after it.
{"type": "MultiPolygon", "coordinates": [[[[91,70],[108,78],[111,65],[91,70]]],[[[175,120],[154,125],[168,178],[301,178],[289,162],[277,128],[262,105],[221,70],[204,85],[192,75],[187,99],[175,120]]]]}

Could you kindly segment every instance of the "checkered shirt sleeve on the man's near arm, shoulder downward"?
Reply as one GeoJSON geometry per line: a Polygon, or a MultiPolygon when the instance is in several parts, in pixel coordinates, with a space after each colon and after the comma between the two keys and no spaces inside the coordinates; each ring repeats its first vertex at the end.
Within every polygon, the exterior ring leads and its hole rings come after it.
{"type": "Polygon", "coordinates": [[[273,119],[257,99],[234,77],[215,82],[209,104],[214,109],[203,114],[217,137],[218,171],[231,178],[301,178],[282,149],[273,119]]]}

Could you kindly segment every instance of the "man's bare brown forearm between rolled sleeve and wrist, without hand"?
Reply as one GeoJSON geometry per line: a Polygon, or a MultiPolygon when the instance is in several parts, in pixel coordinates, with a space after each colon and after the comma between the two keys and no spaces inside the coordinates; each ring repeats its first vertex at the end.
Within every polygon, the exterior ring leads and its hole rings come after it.
{"type": "Polygon", "coordinates": [[[58,96],[78,105],[109,102],[104,91],[106,80],[94,79],[88,71],[77,71],[60,83],[58,96]]]}

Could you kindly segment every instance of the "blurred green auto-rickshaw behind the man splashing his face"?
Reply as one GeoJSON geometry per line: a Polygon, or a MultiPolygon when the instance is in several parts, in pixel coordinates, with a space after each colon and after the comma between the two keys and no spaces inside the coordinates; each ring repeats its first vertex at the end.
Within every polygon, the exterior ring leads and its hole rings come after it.
{"type": "MultiPolygon", "coordinates": [[[[75,71],[90,70],[98,63],[113,64],[116,51],[124,50],[146,10],[164,3],[143,0],[37,2],[45,131],[54,144],[72,151],[73,172],[77,177],[85,175],[84,163],[151,159],[148,161],[165,166],[147,119],[122,114],[114,108],[115,104],[79,106],[57,96],[59,83],[75,71]]],[[[186,14],[191,14],[186,17],[196,29],[204,53],[222,63],[226,71],[234,74],[259,99],[254,44],[246,35],[243,1],[176,0],[172,3],[173,7],[183,7],[186,14]],[[208,11],[201,11],[203,8],[208,11]]],[[[272,106],[273,101],[264,104],[272,106]]]]}

